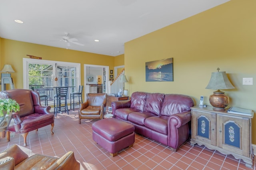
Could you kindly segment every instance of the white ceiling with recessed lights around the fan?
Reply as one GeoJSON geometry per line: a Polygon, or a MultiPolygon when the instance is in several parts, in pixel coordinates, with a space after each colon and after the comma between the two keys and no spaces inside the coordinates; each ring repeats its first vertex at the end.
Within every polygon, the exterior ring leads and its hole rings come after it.
{"type": "Polygon", "coordinates": [[[0,37],[117,56],[124,43],[229,0],[0,0],[0,37]],[[24,23],[16,23],[22,20],[24,23]],[[94,39],[100,40],[95,42],[94,39]]]}

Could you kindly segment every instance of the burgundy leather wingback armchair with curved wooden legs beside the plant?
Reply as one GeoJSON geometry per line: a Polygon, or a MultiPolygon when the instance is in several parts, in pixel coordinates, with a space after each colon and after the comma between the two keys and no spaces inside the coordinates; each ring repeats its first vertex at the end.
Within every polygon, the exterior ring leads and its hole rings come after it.
{"type": "Polygon", "coordinates": [[[53,134],[54,114],[50,112],[50,106],[41,106],[38,92],[12,89],[0,92],[0,98],[11,98],[20,105],[20,111],[12,113],[12,121],[6,132],[7,141],[10,141],[10,131],[21,133],[24,138],[24,147],[26,147],[28,132],[46,125],[52,126],[53,134]]]}

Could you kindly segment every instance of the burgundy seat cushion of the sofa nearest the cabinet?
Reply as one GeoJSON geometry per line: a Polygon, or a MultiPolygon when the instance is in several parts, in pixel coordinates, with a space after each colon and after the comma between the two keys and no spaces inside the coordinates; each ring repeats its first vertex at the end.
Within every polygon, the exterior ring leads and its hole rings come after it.
{"type": "Polygon", "coordinates": [[[168,116],[153,116],[145,120],[144,125],[149,129],[167,135],[168,116]]]}

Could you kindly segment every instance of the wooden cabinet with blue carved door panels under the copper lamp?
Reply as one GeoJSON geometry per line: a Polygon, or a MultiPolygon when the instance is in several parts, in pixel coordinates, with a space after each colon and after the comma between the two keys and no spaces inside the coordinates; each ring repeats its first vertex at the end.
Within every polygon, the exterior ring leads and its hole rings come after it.
{"type": "Polygon", "coordinates": [[[204,145],[242,159],[252,168],[252,115],[216,111],[212,107],[192,107],[191,145],[204,145]]]}

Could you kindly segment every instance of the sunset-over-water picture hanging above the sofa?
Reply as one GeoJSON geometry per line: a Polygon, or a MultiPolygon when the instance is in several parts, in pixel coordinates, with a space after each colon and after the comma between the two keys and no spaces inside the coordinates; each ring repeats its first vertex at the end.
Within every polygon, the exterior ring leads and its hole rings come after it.
{"type": "Polygon", "coordinates": [[[173,82],[173,58],[146,62],[146,82],[173,82]]]}

